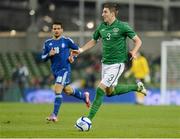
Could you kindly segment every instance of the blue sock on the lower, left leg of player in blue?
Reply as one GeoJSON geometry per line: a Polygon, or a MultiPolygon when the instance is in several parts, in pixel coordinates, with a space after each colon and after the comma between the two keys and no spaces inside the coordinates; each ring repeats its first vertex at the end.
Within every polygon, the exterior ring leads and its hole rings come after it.
{"type": "Polygon", "coordinates": [[[62,95],[61,94],[56,94],[55,100],[54,100],[54,111],[53,113],[57,116],[59,112],[59,108],[62,103],[62,95]]]}

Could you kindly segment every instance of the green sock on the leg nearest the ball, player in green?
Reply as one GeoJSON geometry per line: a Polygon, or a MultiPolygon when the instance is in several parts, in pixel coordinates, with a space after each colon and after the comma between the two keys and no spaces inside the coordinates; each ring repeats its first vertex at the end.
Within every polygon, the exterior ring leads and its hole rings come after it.
{"type": "Polygon", "coordinates": [[[103,102],[104,95],[105,95],[104,91],[98,87],[96,90],[96,96],[89,111],[89,115],[88,115],[89,119],[92,120],[92,118],[95,116],[96,112],[98,111],[99,107],[103,102]]]}

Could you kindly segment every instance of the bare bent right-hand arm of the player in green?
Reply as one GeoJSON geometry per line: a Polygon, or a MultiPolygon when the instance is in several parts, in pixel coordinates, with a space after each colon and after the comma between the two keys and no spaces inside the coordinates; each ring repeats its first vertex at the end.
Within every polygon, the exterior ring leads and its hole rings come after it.
{"type": "Polygon", "coordinates": [[[132,38],[132,40],[134,42],[134,48],[130,51],[130,54],[131,54],[132,58],[135,58],[136,57],[136,53],[138,52],[139,48],[142,45],[142,41],[141,41],[141,39],[139,38],[138,35],[135,35],[132,38]]]}

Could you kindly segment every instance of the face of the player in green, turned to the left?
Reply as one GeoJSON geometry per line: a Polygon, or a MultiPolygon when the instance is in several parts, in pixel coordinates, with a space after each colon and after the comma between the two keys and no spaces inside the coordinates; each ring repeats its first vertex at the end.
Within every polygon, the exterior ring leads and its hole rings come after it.
{"type": "Polygon", "coordinates": [[[109,8],[104,8],[102,12],[102,17],[104,22],[111,23],[114,14],[110,12],[109,8]]]}

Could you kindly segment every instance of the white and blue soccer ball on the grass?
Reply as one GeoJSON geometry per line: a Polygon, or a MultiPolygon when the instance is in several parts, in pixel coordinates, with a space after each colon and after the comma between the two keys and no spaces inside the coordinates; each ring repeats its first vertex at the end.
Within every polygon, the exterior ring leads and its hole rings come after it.
{"type": "Polygon", "coordinates": [[[76,125],[75,125],[75,127],[79,131],[89,131],[91,129],[91,126],[92,126],[91,120],[84,116],[80,117],[76,121],[76,125]]]}

